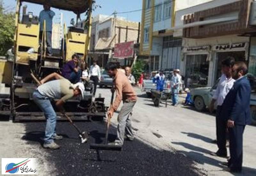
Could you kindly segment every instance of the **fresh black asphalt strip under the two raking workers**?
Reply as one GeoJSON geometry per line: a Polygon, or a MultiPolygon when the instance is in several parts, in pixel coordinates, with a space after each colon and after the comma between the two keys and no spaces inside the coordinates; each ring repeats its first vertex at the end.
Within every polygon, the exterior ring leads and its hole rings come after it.
{"type": "MultiPolygon", "coordinates": [[[[160,151],[139,140],[125,141],[122,151],[90,150],[90,143],[105,141],[104,122],[75,122],[89,132],[89,141],[81,144],[77,131],[68,122],[57,122],[57,133],[64,136],[56,141],[58,150],[42,148],[49,153],[47,161],[56,167],[57,175],[198,175],[193,161],[181,154],[160,151]]],[[[22,137],[29,144],[42,145],[44,122],[25,123],[22,137]]],[[[109,141],[116,138],[116,129],[109,130],[109,141]]],[[[45,173],[47,174],[47,173],[45,173]]],[[[47,174],[48,175],[48,174],[47,174]]],[[[49,174],[50,175],[50,174],[49,174]]]]}

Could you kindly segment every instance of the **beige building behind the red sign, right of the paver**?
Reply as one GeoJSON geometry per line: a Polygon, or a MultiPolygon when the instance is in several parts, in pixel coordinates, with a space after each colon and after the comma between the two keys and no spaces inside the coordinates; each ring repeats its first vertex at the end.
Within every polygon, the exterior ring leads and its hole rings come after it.
{"type": "MultiPolygon", "coordinates": [[[[83,25],[83,22],[80,23],[83,25]]],[[[79,25],[78,25],[79,26],[79,25]]],[[[88,64],[96,60],[100,67],[113,60],[115,44],[134,41],[137,43],[139,23],[125,20],[123,17],[97,15],[92,18],[92,32],[88,64]]],[[[126,65],[133,58],[118,59],[126,65]]]]}

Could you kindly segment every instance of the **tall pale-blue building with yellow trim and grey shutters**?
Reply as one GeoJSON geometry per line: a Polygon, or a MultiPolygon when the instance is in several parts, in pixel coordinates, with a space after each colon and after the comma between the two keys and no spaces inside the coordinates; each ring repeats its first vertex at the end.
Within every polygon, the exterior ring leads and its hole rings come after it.
{"type": "Polygon", "coordinates": [[[180,25],[182,16],[176,12],[209,1],[212,0],[142,1],[140,55],[147,63],[146,71],[180,69],[182,29],[175,27],[180,25]]]}

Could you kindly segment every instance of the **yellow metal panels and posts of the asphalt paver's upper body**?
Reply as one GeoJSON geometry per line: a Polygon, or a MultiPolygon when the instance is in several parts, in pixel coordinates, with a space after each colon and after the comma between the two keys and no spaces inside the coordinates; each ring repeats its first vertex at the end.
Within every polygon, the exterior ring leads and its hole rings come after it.
{"type": "MultiPolygon", "coordinates": [[[[85,33],[77,33],[77,32],[68,32],[66,34],[66,61],[71,60],[71,56],[74,53],[82,54],[86,59],[88,54],[88,50],[90,48],[90,35],[92,28],[92,0],[89,0],[89,27],[87,34],[85,33]]],[[[39,24],[21,24],[19,23],[20,18],[20,0],[17,0],[16,4],[16,14],[15,14],[15,35],[14,35],[14,48],[15,48],[15,62],[17,64],[29,64],[29,60],[37,60],[38,59],[38,48],[39,48],[39,24]],[[19,47],[26,47],[25,49],[34,48],[35,53],[28,53],[27,51],[19,51],[19,47]]],[[[45,30],[45,21],[44,21],[44,32],[42,41],[44,45],[42,56],[46,57],[46,30],[45,30]]],[[[65,27],[66,28],[66,27],[65,27]]]]}

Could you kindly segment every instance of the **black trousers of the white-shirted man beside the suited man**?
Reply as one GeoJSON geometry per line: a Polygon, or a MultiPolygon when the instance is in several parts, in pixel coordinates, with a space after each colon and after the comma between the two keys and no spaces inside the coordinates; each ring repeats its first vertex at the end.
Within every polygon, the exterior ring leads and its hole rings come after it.
{"type": "Polygon", "coordinates": [[[216,136],[217,136],[217,145],[218,153],[227,154],[226,140],[227,140],[227,120],[221,116],[221,106],[217,107],[216,113],[216,136]]]}

